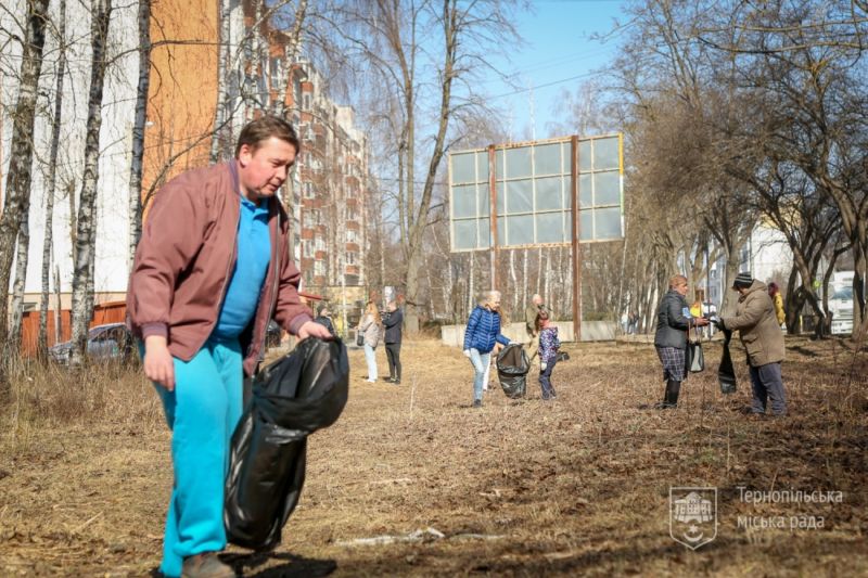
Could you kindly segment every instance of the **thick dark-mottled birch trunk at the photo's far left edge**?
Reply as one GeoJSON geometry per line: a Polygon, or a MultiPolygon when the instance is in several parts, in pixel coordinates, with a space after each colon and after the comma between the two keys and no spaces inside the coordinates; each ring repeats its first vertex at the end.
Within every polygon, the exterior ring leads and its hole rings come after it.
{"type": "MultiPolygon", "coordinates": [[[[30,203],[30,170],[33,165],[33,134],[36,119],[37,89],[39,74],[42,70],[42,48],[46,43],[46,22],[48,18],[48,0],[29,0],[27,2],[27,22],[21,61],[21,84],[18,101],[15,104],[12,124],[12,143],[7,175],[7,196],[3,202],[3,215],[0,217],[0,359],[9,359],[7,343],[7,312],[9,301],[9,278],[12,270],[12,258],[15,239],[18,236],[22,222],[27,219],[30,203]]],[[[5,363],[0,363],[0,400],[9,394],[5,363]]]]}

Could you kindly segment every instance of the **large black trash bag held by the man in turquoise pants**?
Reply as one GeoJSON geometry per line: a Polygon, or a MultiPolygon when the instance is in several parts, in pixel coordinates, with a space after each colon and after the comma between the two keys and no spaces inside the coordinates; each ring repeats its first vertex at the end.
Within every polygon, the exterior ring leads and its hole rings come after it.
{"type": "Polygon", "coordinates": [[[340,341],[302,341],[256,374],[232,435],[224,521],[227,539],[271,550],[305,481],[307,436],[333,424],[346,404],[349,362],[340,341]]]}

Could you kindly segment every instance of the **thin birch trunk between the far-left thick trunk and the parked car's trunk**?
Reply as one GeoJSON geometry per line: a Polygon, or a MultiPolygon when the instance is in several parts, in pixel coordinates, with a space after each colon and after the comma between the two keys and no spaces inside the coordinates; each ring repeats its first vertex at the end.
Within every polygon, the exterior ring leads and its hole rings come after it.
{"type": "MultiPolygon", "coordinates": [[[[61,114],[63,112],[63,77],[66,74],[66,0],[60,0],[60,22],[58,23],[58,73],[54,82],[54,116],[51,118],[51,150],[48,160],[46,182],[46,236],[42,240],[42,298],[39,301],[39,334],[36,339],[36,354],[44,358],[48,351],[48,301],[49,274],[51,272],[51,246],[54,242],[54,192],[58,178],[58,150],[61,142],[61,114]]],[[[60,307],[60,305],[58,306],[60,307]]],[[[56,341],[55,341],[56,343],[56,341]]]]}

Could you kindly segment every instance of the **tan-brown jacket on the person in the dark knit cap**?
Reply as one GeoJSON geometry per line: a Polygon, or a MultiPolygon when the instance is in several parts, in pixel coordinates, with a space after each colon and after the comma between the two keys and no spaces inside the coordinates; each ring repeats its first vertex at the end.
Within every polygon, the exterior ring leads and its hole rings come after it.
{"type": "Polygon", "coordinates": [[[754,280],[748,293],[739,297],[736,317],[724,319],[724,326],[739,331],[751,367],[783,361],[783,332],[765,283],[754,280]]]}

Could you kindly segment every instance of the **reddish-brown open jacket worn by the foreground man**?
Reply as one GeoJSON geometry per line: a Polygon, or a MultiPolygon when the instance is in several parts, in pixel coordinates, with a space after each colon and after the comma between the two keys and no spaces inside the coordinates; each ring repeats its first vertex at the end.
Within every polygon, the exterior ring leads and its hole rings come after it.
{"type": "MultiPolygon", "coordinates": [[[[184,361],[217,324],[238,255],[240,194],[234,160],[180,175],[155,196],[136,249],[127,290],[130,329],[141,338],[166,336],[169,352],[184,361]]],[[[286,213],[277,198],[268,208],[271,260],[252,326],[241,336],[247,375],[256,371],[272,316],[293,334],[311,321],[298,298],[286,213]]]]}

